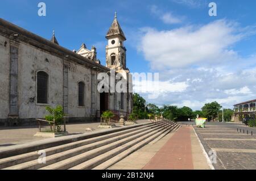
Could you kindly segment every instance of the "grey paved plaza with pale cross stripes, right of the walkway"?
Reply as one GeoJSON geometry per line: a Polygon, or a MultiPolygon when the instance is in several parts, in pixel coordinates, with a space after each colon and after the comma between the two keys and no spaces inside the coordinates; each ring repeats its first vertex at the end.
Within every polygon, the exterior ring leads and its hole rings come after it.
{"type": "Polygon", "coordinates": [[[207,153],[210,150],[216,151],[217,163],[213,163],[215,169],[256,169],[255,128],[245,127],[242,124],[207,123],[205,129],[195,128],[195,130],[207,153]]]}

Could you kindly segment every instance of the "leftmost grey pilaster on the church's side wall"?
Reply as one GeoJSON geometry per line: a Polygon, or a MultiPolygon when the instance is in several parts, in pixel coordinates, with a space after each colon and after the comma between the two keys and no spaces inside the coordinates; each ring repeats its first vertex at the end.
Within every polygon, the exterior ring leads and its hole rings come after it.
{"type": "Polygon", "coordinates": [[[10,111],[9,119],[19,118],[19,94],[18,94],[18,71],[19,71],[19,42],[10,37],[10,111]]]}

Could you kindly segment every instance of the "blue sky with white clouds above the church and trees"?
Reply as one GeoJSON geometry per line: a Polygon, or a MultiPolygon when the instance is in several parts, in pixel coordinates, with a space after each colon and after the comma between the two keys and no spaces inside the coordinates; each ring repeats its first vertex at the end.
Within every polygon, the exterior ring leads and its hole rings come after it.
{"type": "Polygon", "coordinates": [[[117,11],[131,72],[159,72],[160,95],[148,102],[199,110],[217,100],[225,108],[256,92],[254,0],[31,1],[2,0],[0,17],[68,49],[95,45],[105,64],[105,35],[117,11]],[[38,16],[45,2],[47,16],[38,16]],[[209,2],[217,16],[209,16],[209,2]]]}

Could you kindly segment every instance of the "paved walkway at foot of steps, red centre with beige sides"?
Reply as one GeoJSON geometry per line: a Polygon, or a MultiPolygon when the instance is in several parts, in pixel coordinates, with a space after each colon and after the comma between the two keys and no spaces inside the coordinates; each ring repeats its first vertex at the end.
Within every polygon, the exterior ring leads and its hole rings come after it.
{"type": "Polygon", "coordinates": [[[135,151],[109,168],[112,169],[209,170],[210,166],[192,126],[184,126],[135,151]]]}

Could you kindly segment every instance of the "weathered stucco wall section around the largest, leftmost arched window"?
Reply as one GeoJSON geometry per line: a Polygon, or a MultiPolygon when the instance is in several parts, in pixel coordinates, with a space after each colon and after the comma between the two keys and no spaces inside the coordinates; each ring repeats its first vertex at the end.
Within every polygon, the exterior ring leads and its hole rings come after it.
{"type": "Polygon", "coordinates": [[[46,106],[63,106],[63,61],[42,50],[19,45],[19,118],[43,118],[46,106]],[[48,104],[36,102],[36,75],[45,71],[48,76],[48,104]]]}

